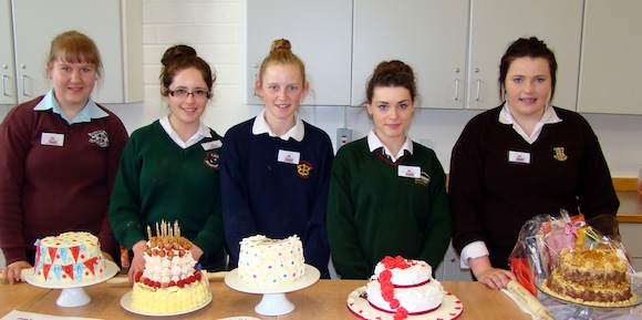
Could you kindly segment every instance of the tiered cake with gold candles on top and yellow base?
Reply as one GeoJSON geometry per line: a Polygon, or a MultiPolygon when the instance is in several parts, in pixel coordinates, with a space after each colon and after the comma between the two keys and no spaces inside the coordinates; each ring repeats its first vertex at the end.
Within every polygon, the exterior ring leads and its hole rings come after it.
{"type": "Polygon", "coordinates": [[[209,283],[196,268],[191,241],[180,236],[178,223],[156,225],[156,236],[147,227],[143,258],[145,268],[135,276],[132,308],[167,314],[196,310],[211,300],[209,283]]]}

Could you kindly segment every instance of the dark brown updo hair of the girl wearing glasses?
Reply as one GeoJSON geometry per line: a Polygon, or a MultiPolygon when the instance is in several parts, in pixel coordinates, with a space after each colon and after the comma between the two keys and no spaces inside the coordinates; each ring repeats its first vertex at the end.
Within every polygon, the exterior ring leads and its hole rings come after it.
{"type": "Polygon", "coordinates": [[[169,85],[174,82],[174,76],[185,69],[195,68],[200,71],[203,80],[207,84],[207,91],[210,92],[208,97],[211,96],[211,89],[214,82],[216,81],[216,74],[211,71],[211,68],[205,60],[196,54],[196,50],[186,44],[177,44],[165,51],[163,59],[163,70],[161,71],[161,94],[167,95],[167,90],[169,85]]]}

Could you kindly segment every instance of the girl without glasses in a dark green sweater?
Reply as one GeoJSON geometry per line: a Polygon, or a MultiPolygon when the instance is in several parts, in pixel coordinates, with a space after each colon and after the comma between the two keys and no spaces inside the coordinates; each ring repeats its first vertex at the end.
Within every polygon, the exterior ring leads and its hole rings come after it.
{"type": "Polygon", "coordinates": [[[332,165],[328,237],[336,272],[369,278],[385,256],[441,264],[452,234],[446,176],[435,153],[411,141],[412,69],[382,62],[371,76],[367,137],[341,147],[332,165]]]}

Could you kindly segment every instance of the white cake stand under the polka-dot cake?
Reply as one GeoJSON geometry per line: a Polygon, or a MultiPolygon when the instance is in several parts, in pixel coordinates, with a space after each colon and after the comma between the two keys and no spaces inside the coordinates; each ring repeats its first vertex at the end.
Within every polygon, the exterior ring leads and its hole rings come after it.
{"type": "Polygon", "coordinates": [[[225,277],[225,283],[237,291],[263,295],[261,302],[255,307],[255,311],[258,313],[281,316],[294,310],[294,303],[288,300],[286,293],[308,288],[314,285],[320,277],[321,272],[317,268],[306,265],[306,273],[296,281],[275,286],[257,286],[244,281],[238,275],[238,269],[234,269],[225,277]]]}

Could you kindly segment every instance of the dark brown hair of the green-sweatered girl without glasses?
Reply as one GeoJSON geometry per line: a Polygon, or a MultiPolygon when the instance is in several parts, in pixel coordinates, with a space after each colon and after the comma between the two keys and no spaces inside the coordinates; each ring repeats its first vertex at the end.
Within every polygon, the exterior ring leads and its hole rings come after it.
{"type": "Polygon", "coordinates": [[[403,86],[411,93],[413,102],[417,96],[417,84],[413,69],[398,60],[383,61],[374,69],[365,89],[366,102],[372,102],[376,86],[403,86]]]}

